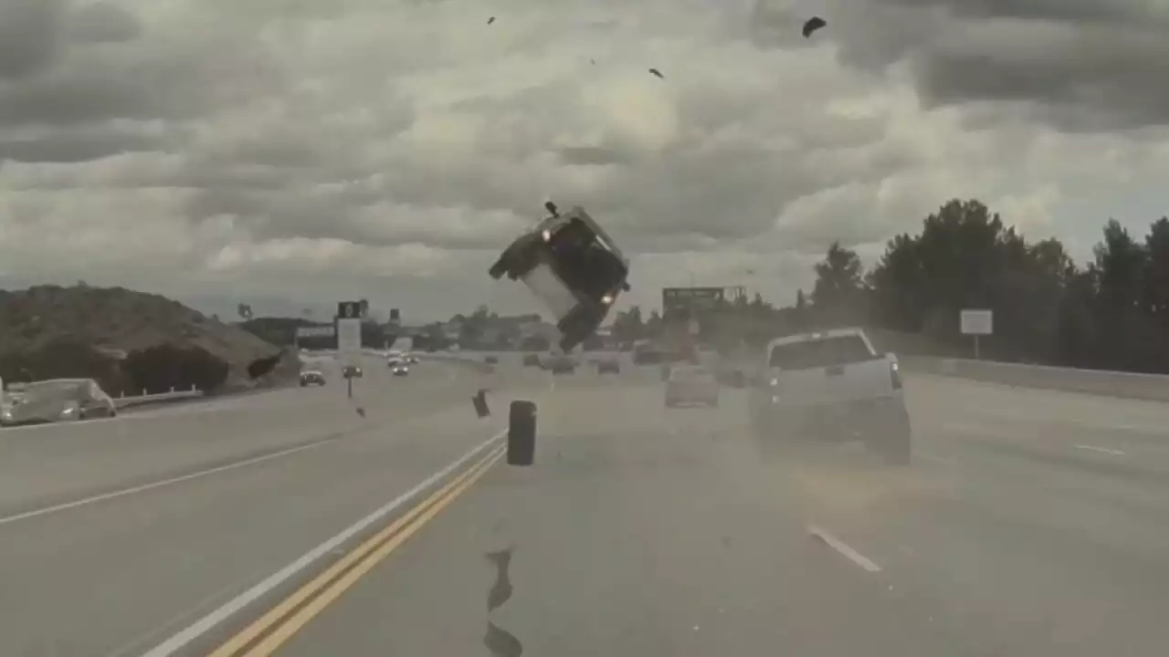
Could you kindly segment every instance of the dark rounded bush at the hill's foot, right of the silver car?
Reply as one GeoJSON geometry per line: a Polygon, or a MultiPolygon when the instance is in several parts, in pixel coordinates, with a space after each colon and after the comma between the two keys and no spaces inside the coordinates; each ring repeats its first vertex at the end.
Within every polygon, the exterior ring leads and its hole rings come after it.
{"type": "Polygon", "coordinates": [[[202,347],[178,347],[171,344],[136,350],[126,355],[122,372],[134,394],[166,393],[192,387],[214,392],[227,380],[228,364],[202,347]]]}

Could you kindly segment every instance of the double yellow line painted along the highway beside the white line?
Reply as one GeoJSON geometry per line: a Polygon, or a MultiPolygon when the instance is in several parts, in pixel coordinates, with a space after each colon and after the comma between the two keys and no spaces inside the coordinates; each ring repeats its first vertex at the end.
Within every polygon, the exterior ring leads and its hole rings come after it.
{"type": "Polygon", "coordinates": [[[506,448],[503,445],[490,450],[475,465],[297,589],[260,620],[215,649],[209,657],[265,657],[275,652],[374,566],[389,556],[397,546],[458,499],[499,461],[505,451],[506,448]]]}

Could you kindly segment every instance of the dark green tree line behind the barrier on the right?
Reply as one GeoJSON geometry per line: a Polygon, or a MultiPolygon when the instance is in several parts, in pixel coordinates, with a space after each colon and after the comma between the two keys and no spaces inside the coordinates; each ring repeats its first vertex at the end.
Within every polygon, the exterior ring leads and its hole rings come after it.
{"type": "MultiPolygon", "coordinates": [[[[890,240],[867,271],[839,242],[815,265],[810,292],[776,307],[760,295],[727,304],[738,336],[758,341],[809,328],[864,325],[916,336],[931,351],[969,352],[962,309],[994,311],[983,358],[1169,373],[1169,219],[1134,237],[1116,220],[1090,262],[1054,237],[1029,241],[977,200],[950,200],[920,233],[890,240]]],[[[652,337],[639,309],[618,313],[618,339],[652,337]]],[[[659,321],[659,320],[658,320],[659,321]]],[[[715,323],[718,324],[718,323],[715,323]]],[[[724,323],[726,324],[726,323],[724,323]]]]}

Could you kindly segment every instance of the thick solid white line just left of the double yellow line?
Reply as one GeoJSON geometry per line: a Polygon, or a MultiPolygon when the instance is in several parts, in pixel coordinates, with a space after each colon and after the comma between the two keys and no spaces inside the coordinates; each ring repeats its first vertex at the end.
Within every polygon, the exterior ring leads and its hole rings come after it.
{"type": "Polygon", "coordinates": [[[302,570],[309,568],[314,562],[319,561],[321,558],[326,556],[332,551],[337,549],[346,541],[358,535],[364,530],[368,528],[371,525],[382,520],[383,518],[386,518],[386,516],[389,516],[390,513],[397,511],[407,503],[411,502],[420,493],[433,486],[443,477],[450,475],[451,472],[464,465],[466,462],[475,458],[476,455],[480,454],[483,450],[485,450],[487,447],[497,442],[506,434],[507,430],[504,429],[497,433],[496,435],[491,436],[490,438],[483,441],[477,447],[472,448],[470,451],[458,457],[442,470],[427,477],[426,480],[415,485],[413,489],[389,500],[373,513],[350,525],[340,533],[333,535],[331,539],[304,553],[288,566],[272,573],[260,583],[241,593],[240,595],[233,597],[220,608],[215,609],[214,611],[203,616],[202,618],[195,621],[193,624],[179,631],[171,638],[155,645],[150,651],[145,652],[143,657],[168,657],[171,655],[174,655],[179,650],[182,650],[187,644],[201,637],[202,635],[207,634],[223,621],[230,618],[248,604],[251,604],[253,602],[260,600],[264,595],[271,593],[277,587],[279,587],[288,580],[292,579],[302,570]]]}

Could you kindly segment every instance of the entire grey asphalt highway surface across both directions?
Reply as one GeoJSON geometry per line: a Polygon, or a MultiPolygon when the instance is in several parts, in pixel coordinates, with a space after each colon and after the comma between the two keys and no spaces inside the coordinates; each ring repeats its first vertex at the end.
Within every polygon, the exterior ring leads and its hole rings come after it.
{"type": "MultiPolygon", "coordinates": [[[[1169,645],[1169,406],[911,376],[915,462],[890,469],[852,448],[761,458],[774,452],[747,436],[741,393],[667,410],[656,371],[503,371],[485,421],[466,402],[484,378],[438,365],[411,388],[386,382],[364,421],[345,403],[312,406],[325,390],[125,419],[159,422],[112,434],[125,461],[154,440],[174,445],[88,486],[247,458],[272,449],[271,433],[296,434],[293,447],[344,437],[0,519],[0,653],[511,656],[518,643],[559,656],[1098,657],[1169,645]],[[465,456],[514,396],[540,400],[537,465],[494,462],[493,443],[465,456]],[[257,429],[265,413],[279,429],[257,429]],[[231,428],[224,442],[240,451],[209,457],[231,428]],[[461,455],[484,465],[433,478],[461,455]],[[397,504],[427,479],[447,485],[397,504]],[[498,567],[485,554],[509,549],[511,596],[489,613],[498,567]]],[[[34,491],[23,509],[78,495],[61,472],[89,472],[74,463],[115,449],[0,447],[51,479],[11,484],[21,469],[0,452],[0,499],[34,491]]]]}

